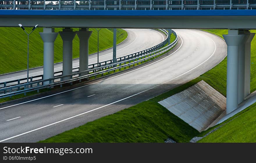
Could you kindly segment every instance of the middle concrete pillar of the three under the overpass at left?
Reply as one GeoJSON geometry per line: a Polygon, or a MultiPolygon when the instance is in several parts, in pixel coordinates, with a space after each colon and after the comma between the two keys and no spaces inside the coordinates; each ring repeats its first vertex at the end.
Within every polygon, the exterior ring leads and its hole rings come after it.
{"type": "MultiPolygon", "coordinates": [[[[62,75],[72,74],[72,43],[76,35],[71,28],[63,28],[62,32],[59,32],[63,40],[63,64],[62,75]]],[[[63,78],[63,80],[69,80],[70,77],[63,78]]]]}

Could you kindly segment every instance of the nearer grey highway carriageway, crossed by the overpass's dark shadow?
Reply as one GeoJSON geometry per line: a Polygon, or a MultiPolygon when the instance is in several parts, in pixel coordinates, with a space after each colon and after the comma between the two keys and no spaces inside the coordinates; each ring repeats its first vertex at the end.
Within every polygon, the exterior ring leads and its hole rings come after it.
{"type": "Polygon", "coordinates": [[[221,38],[199,30],[175,31],[178,45],[156,60],[56,94],[1,105],[0,142],[44,140],[182,85],[225,58],[221,38]]]}

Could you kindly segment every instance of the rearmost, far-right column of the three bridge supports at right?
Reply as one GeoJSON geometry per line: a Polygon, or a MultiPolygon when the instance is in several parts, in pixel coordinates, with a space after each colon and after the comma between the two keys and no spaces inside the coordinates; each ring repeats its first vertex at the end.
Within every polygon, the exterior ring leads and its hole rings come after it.
{"type": "Polygon", "coordinates": [[[250,33],[249,38],[245,44],[245,77],[244,77],[244,96],[250,94],[251,81],[251,42],[255,33],[250,33]]]}

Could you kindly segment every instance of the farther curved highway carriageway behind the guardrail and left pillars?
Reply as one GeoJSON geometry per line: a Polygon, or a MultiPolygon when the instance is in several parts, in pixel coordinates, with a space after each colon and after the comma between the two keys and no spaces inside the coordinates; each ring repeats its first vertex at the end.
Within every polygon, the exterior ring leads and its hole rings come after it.
{"type": "MultiPolygon", "coordinates": [[[[125,29],[128,37],[125,41],[116,46],[116,57],[122,57],[138,51],[148,49],[161,43],[166,39],[166,35],[152,29],[125,29]]],[[[90,47],[89,47],[90,48],[90,47]]],[[[111,60],[113,58],[113,48],[99,52],[99,62],[111,60]]],[[[97,53],[89,55],[89,65],[97,63],[97,53]]],[[[79,58],[73,59],[73,68],[79,67],[79,58]]],[[[62,62],[54,65],[54,72],[62,71],[62,62]]],[[[29,70],[29,77],[43,74],[43,67],[29,70]]],[[[0,83],[5,81],[17,80],[27,77],[27,71],[0,75],[0,83]]],[[[26,81],[24,81],[26,82],[26,81]]]]}

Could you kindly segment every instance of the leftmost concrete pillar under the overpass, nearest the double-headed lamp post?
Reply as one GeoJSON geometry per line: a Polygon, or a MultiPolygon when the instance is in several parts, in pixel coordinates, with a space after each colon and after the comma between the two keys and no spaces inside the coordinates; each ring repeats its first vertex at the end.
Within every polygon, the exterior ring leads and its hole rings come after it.
{"type": "MultiPolygon", "coordinates": [[[[44,74],[43,79],[54,77],[54,41],[59,33],[54,32],[54,28],[44,28],[43,32],[39,32],[44,42],[44,74]]],[[[49,84],[49,81],[43,85],[49,84]]]]}

